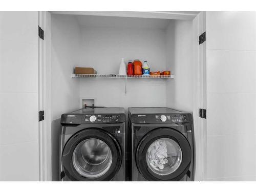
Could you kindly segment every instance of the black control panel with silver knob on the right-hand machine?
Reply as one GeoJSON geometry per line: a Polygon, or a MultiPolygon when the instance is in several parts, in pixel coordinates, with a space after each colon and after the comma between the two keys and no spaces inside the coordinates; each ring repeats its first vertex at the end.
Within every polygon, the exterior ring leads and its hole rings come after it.
{"type": "Polygon", "coordinates": [[[134,123],[185,123],[191,122],[192,116],[184,114],[133,114],[134,123]]]}

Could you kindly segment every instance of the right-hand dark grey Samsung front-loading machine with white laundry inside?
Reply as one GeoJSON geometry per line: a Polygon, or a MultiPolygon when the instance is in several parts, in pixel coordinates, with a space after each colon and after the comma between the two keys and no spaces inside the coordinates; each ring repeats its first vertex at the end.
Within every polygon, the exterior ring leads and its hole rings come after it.
{"type": "Polygon", "coordinates": [[[129,108],[127,171],[132,181],[193,181],[194,131],[190,113],[129,108]]]}

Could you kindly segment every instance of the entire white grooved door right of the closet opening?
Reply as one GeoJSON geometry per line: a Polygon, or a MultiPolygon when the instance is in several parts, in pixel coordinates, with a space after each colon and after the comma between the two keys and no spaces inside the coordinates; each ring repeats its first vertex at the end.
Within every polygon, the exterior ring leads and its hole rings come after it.
{"type": "Polygon", "coordinates": [[[205,180],[256,180],[256,12],[207,12],[205,180]]]}

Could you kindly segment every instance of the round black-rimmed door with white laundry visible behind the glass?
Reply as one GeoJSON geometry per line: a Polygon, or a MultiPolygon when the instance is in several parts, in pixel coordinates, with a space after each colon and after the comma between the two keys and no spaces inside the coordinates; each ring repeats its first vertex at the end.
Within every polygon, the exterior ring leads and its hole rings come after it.
{"type": "Polygon", "coordinates": [[[136,164],[150,181],[178,181],[191,162],[191,148],[182,133],[160,127],[145,135],[137,147],[136,164]]]}

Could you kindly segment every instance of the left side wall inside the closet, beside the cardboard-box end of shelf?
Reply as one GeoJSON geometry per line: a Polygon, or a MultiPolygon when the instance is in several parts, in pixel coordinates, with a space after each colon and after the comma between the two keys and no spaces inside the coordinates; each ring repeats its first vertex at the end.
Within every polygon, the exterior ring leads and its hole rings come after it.
{"type": "Polygon", "coordinates": [[[79,81],[71,73],[79,60],[80,29],[74,16],[51,18],[52,180],[57,180],[59,118],[79,108],[79,81]]]}

